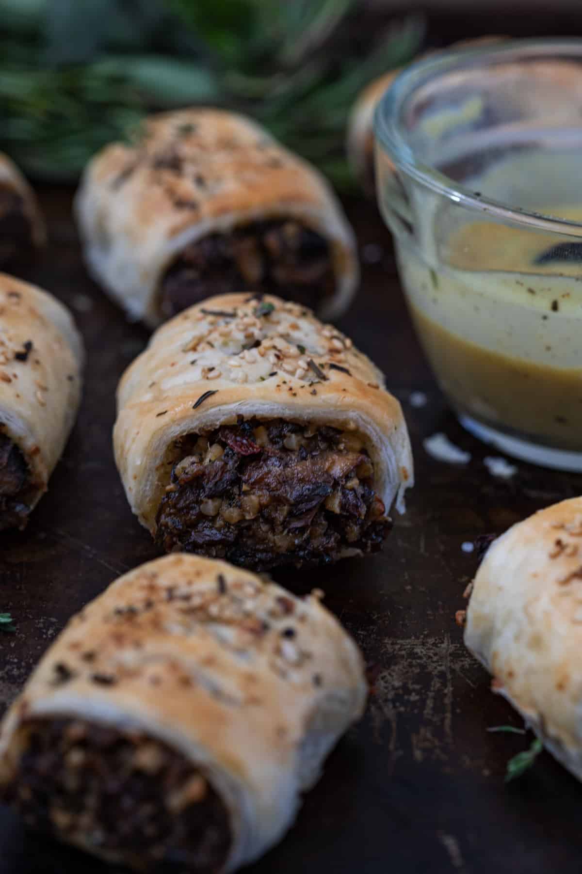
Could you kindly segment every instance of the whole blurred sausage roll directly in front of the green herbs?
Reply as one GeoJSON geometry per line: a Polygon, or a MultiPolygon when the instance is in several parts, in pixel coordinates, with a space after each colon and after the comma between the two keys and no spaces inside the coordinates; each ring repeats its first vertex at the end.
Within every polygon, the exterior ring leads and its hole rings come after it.
{"type": "Polygon", "coordinates": [[[354,235],[329,185],[242,115],[152,116],[140,142],[89,163],[77,215],[95,279],[150,325],[249,289],[330,318],[356,290],[354,235]]]}

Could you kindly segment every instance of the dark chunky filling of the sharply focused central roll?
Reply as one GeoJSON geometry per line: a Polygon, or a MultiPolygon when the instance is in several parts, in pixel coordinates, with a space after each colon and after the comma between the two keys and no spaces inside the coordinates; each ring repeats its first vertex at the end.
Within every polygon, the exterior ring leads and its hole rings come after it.
{"type": "Polygon", "coordinates": [[[256,570],[378,551],[391,529],[356,434],[244,420],[178,441],[156,542],[256,570]]]}

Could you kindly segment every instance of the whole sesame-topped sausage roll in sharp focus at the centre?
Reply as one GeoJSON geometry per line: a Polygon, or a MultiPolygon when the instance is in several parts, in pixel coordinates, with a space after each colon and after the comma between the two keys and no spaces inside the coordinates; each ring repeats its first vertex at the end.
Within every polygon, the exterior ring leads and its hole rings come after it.
{"type": "Polygon", "coordinates": [[[221,295],[163,325],[117,401],[121,480],[166,551],[257,569],[376,551],[412,485],[382,374],[270,295],[221,295]]]}

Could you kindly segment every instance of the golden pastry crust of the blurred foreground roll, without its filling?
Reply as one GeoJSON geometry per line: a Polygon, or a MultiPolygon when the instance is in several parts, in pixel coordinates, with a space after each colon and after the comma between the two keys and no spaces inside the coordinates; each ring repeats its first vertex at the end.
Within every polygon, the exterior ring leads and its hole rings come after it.
{"type": "MultiPolygon", "coordinates": [[[[166,556],[114,582],[53,643],[4,719],[0,787],[17,773],[27,718],[143,732],[195,763],[225,801],[233,871],[289,828],[365,696],[357,646],[317,595],[166,556]]],[[[102,855],[91,834],[67,839],[102,855]]]]}

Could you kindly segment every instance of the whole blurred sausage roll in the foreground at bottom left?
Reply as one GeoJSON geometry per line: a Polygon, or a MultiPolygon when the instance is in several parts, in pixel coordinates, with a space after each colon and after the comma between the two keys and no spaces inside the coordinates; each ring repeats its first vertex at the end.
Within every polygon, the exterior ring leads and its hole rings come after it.
{"type": "Polygon", "coordinates": [[[108,862],[234,871],[287,831],[365,696],[318,593],[166,556],[48,650],[3,722],[0,794],[108,862]]]}

